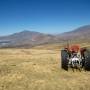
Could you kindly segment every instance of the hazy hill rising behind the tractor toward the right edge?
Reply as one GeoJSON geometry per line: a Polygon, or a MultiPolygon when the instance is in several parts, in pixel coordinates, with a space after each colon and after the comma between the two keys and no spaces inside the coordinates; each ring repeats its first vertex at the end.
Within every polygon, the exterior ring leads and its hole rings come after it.
{"type": "Polygon", "coordinates": [[[61,40],[90,42],[90,25],[79,27],[70,32],[58,34],[56,37],[61,40]]]}

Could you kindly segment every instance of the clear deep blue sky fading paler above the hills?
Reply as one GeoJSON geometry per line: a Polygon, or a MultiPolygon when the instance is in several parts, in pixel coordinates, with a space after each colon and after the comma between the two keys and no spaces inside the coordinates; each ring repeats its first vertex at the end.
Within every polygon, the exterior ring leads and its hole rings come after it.
{"type": "Polygon", "coordinates": [[[62,33],[90,24],[90,0],[0,0],[0,35],[62,33]]]}

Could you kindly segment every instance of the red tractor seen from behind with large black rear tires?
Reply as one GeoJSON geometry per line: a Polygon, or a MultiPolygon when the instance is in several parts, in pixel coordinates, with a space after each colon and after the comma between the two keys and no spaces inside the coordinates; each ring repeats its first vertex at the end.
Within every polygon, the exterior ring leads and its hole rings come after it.
{"type": "Polygon", "coordinates": [[[72,45],[61,50],[61,68],[90,70],[90,51],[87,48],[80,48],[79,45],[72,45]]]}

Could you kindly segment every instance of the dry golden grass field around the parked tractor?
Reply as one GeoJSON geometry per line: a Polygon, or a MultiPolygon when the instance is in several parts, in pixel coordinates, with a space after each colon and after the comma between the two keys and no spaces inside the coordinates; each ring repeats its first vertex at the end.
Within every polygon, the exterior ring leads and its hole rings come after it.
{"type": "Polygon", "coordinates": [[[90,90],[90,72],[62,70],[59,49],[0,49],[0,90],[90,90]]]}

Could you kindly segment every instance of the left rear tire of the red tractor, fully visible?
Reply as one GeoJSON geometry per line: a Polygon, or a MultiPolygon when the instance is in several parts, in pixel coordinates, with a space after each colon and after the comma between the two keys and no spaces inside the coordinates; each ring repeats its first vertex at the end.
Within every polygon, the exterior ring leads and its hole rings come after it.
{"type": "Polygon", "coordinates": [[[61,68],[68,71],[68,52],[66,50],[61,50],[61,68]]]}

